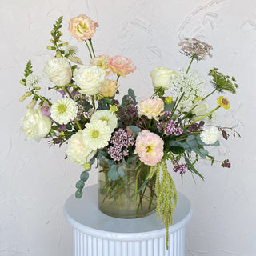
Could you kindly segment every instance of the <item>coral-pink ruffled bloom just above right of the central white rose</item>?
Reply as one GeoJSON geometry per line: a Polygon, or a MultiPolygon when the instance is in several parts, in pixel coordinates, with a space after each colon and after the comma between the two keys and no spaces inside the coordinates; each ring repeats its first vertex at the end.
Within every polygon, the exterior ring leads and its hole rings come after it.
{"type": "Polygon", "coordinates": [[[125,58],[120,55],[110,58],[109,67],[113,73],[121,75],[123,78],[136,70],[136,66],[134,66],[130,58],[125,58]]]}

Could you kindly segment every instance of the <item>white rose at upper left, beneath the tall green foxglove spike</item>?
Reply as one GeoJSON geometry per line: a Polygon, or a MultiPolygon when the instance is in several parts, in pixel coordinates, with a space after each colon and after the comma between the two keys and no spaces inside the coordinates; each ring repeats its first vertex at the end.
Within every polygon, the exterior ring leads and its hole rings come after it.
{"type": "Polygon", "coordinates": [[[57,86],[66,86],[72,77],[72,70],[67,58],[49,58],[42,74],[57,86]]]}

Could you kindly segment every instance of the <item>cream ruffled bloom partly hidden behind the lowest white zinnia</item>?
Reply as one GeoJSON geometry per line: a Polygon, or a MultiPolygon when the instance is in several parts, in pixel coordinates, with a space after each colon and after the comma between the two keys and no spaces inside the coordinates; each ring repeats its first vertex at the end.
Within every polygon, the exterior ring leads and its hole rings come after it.
{"type": "Polygon", "coordinates": [[[92,150],[84,144],[82,140],[82,130],[73,134],[67,142],[66,155],[71,162],[76,162],[83,166],[94,157],[97,151],[92,150]]]}

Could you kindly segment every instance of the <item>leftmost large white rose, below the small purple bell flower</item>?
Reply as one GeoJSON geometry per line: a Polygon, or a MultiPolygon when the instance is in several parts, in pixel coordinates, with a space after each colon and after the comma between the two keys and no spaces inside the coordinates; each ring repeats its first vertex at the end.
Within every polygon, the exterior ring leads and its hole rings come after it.
{"type": "Polygon", "coordinates": [[[41,114],[41,110],[28,108],[26,115],[22,118],[22,131],[26,134],[26,140],[34,138],[39,142],[41,138],[46,137],[51,128],[50,118],[41,114]]]}

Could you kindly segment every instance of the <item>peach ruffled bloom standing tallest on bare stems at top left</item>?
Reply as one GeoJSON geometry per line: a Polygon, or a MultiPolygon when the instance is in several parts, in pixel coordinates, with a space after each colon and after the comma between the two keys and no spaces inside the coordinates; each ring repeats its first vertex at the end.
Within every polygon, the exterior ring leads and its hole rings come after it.
{"type": "Polygon", "coordinates": [[[88,40],[94,36],[98,27],[98,23],[92,21],[86,15],[78,15],[76,18],[71,18],[69,22],[70,34],[78,39],[78,42],[88,40]]]}

